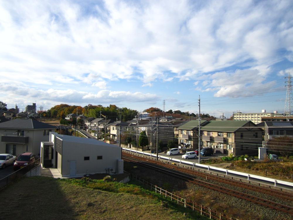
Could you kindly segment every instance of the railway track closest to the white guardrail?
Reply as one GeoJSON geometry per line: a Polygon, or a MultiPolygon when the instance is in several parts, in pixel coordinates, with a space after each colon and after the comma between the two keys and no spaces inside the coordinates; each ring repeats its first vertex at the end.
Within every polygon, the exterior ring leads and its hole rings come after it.
{"type": "MultiPolygon", "coordinates": [[[[124,155],[131,155],[131,154],[125,153],[124,155]]],[[[136,156],[136,155],[131,155],[131,157],[137,158],[139,160],[148,161],[150,163],[155,163],[155,164],[158,164],[160,166],[163,166],[163,167],[166,167],[166,168],[169,168],[169,169],[172,169],[172,170],[177,170],[179,172],[188,173],[190,175],[195,175],[195,176],[200,176],[200,177],[203,177],[203,178],[205,178],[207,180],[213,180],[213,181],[217,181],[217,182],[222,182],[222,183],[233,185],[233,186],[236,186],[236,187],[249,189],[249,190],[252,190],[252,191],[255,191],[255,192],[268,194],[270,196],[274,196],[274,197],[277,197],[277,198],[280,198],[280,199],[293,201],[293,195],[292,194],[285,193],[285,192],[282,192],[282,191],[277,191],[277,190],[273,190],[273,189],[266,188],[266,187],[259,187],[259,186],[251,185],[251,184],[244,183],[244,182],[238,182],[236,180],[231,180],[231,179],[227,179],[227,178],[224,178],[224,177],[214,176],[212,174],[187,169],[187,168],[184,168],[184,167],[178,167],[178,166],[175,166],[175,165],[172,165],[172,164],[166,164],[166,163],[156,161],[156,160],[155,161],[154,160],[148,160],[146,158],[139,157],[139,156],[136,156]]]]}

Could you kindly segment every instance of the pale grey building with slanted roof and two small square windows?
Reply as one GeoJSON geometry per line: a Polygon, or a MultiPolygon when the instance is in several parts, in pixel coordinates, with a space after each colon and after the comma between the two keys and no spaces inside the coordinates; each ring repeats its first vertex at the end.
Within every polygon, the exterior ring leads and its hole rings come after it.
{"type": "Polygon", "coordinates": [[[50,133],[41,143],[42,167],[57,168],[62,177],[123,173],[122,148],[91,138],[50,133]]]}

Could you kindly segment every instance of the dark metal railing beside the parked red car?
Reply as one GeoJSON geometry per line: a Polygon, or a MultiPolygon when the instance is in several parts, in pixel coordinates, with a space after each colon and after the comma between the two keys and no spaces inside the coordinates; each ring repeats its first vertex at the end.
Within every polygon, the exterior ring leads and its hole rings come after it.
{"type": "Polygon", "coordinates": [[[2,178],[0,180],[0,190],[3,189],[4,187],[6,187],[11,182],[13,182],[13,181],[19,179],[20,177],[22,177],[23,175],[25,175],[28,171],[35,168],[40,163],[41,163],[41,158],[35,160],[33,163],[30,163],[21,169],[11,173],[10,175],[2,178]]]}

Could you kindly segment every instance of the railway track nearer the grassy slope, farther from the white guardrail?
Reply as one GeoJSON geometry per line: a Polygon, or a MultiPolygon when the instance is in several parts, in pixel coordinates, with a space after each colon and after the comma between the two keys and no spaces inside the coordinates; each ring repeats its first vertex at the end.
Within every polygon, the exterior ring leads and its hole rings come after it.
{"type": "MultiPolygon", "coordinates": [[[[132,156],[133,155],[131,155],[131,157],[132,156]]],[[[167,175],[171,175],[171,176],[176,177],[176,178],[180,178],[182,180],[194,183],[196,185],[200,185],[202,187],[207,187],[209,189],[212,189],[212,190],[215,190],[215,191],[218,191],[218,192],[229,194],[231,196],[241,198],[241,199],[244,199],[244,200],[249,201],[249,202],[260,204],[260,205],[263,205],[265,207],[268,207],[268,208],[271,208],[271,209],[275,209],[277,211],[282,211],[282,212],[285,212],[285,213],[293,215],[293,207],[289,207],[289,206],[286,206],[286,205],[283,205],[283,204],[280,204],[280,203],[277,203],[277,202],[272,202],[272,201],[267,200],[267,199],[256,197],[256,196],[253,196],[253,195],[250,195],[250,194],[239,192],[239,191],[236,191],[236,190],[233,190],[233,189],[229,189],[229,188],[226,188],[226,187],[215,185],[215,184],[205,182],[205,181],[202,181],[202,180],[197,180],[197,179],[194,179],[193,177],[186,176],[186,175],[183,175],[183,174],[179,174],[177,172],[166,170],[166,169],[163,169],[163,168],[160,168],[160,167],[156,167],[154,165],[139,162],[139,161],[133,160],[131,158],[127,158],[127,157],[122,157],[122,158],[125,161],[129,161],[129,162],[132,162],[132,163],[139,164],[140,166],[147,167],[149,169],[156,170],[156,171],[165,173],[167,175]]],[[[137,157],[136,159],[141,160],[141,157],[137,157]]],[[[150,162],[150,161],[148,161],[148,162],[150,162]]]]}

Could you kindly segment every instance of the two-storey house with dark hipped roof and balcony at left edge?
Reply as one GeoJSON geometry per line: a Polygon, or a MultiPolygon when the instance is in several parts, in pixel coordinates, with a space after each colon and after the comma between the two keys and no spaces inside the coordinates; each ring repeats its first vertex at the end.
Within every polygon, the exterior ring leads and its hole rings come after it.
{"type": "Polygon", "coordinates": [[[14,119],[0,123],[0,153],[40,154],[41,141],[49,141],[49,132],[56,127],[34,119],[14,119]]]}

